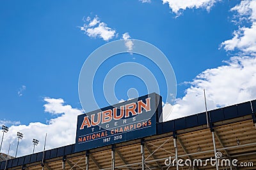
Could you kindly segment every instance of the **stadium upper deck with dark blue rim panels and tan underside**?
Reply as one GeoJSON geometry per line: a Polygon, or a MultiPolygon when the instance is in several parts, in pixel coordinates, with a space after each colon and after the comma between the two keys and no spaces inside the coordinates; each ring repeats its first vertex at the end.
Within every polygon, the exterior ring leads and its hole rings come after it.
{"type": "MultiPolygon", "coordinates": [[[[219,169],[256,169],[256,100],[208,111],[205,113],[157,123],[157,134],[83,152],[75,145],[63,146],[0,162],[8,169],[177,169],[166,166],[177,157],[183,163],[179,169],[216,169],[211,165],[215,153],[221,160],[237,160],[236,165],[219,169]],[[214,139],[214,140],[213,140],[214,139]],[[215,150],[214,150],[215,143],[215,150]],[[196,161],[195,161],[196,160],[196,161]],[[200,161],[202,160],[202,164],[200,161]],[[198,162],[199,161],[199,162],[198,162]],[[198,164],[197,164],[198,163],[198,164]]],[[[225,162],[222,161],[222,162],[225,162]]]]}

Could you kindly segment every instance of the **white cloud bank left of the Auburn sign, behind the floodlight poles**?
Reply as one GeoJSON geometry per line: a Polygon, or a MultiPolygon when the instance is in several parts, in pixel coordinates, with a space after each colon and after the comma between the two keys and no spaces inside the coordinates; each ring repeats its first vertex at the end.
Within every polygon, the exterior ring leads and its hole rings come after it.
{"type": "Polygon", "coordinates": [[[46,102],[46,104],[44,104],[45,112],[63,114],[57,118],[52,118],[49,120],[48,124],[35,122],[29,125],[10,126],[9,131],[4,134],[1,152],[7,153],[8,145],[11,143],[10,155],[15,155],[17,131],[24,134],[19,144],[18,157],[33,152],[33,138],[39,140],[38,146],[35,147],[35,152],[42,151],[44,149],[45,133],[47,133],[47,150],[75,143],[77,115],[82,114],[82,111],[64,104],[63,99],[51,99],[46,97],[44,101],[46,102]]]}

